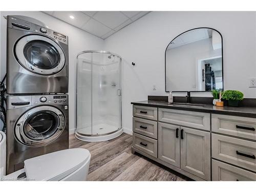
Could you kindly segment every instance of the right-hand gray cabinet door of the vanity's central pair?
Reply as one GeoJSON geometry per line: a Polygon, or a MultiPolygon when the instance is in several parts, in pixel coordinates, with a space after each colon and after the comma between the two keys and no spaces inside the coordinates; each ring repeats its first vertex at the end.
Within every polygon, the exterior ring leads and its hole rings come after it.
{"type": "Polygon", "coordinates": [[[210,133],[180,127],[181,169],[210,180],[210,133]]]}

